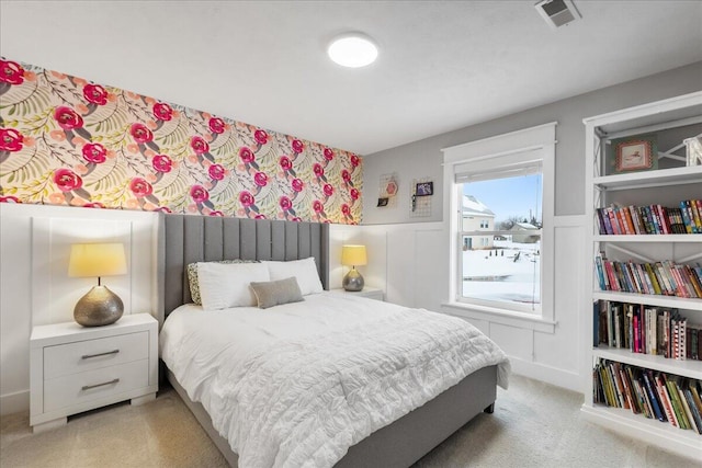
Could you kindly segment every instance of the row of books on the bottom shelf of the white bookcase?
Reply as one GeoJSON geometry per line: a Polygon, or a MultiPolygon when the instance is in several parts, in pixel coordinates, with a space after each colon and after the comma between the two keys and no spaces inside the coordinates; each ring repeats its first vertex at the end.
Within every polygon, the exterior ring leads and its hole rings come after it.
{"type": "Polygon", "coordinates": [[[593,401],[702,434],[702,383],[614,361],[592,372],[593,401]]]}

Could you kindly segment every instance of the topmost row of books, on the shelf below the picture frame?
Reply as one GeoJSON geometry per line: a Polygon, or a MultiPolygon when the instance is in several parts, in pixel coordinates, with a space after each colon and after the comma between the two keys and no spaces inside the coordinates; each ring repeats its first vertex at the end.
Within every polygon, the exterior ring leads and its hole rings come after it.
{"type": "Polygon", "coordinates": [[[702,199],[680,206],[616,206],[597,208],[601,235],[702,233],[702,199]]]}

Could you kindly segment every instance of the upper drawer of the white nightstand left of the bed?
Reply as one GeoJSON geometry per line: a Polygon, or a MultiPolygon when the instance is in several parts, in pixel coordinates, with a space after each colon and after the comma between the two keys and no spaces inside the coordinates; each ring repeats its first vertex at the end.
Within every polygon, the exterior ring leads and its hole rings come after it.
{"type": "Polygon", "coordinates": [[[44,379],[115,366],[149,356],[149,333],[127,333],[98,340],[46,346],[44,379]]]}

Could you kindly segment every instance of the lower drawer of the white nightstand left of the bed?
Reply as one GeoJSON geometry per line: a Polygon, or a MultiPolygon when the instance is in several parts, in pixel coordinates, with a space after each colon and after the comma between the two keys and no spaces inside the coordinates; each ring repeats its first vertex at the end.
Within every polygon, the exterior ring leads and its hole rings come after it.
{"type": "Polygon", "coordinates": [[[148,387],[147,358],[44,381],[44,411],[54,411],[112,395],[148,387]]]}

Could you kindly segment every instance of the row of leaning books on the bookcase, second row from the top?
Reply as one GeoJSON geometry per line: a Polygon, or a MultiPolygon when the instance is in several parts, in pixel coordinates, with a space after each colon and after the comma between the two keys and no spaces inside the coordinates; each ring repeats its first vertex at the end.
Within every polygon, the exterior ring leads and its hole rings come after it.
{"type": "Polygon", "coordinates": [[[670,260],[634,263],[595,259],[601,290],[702,298],[702,266],[676,264],[670,260]]]}

